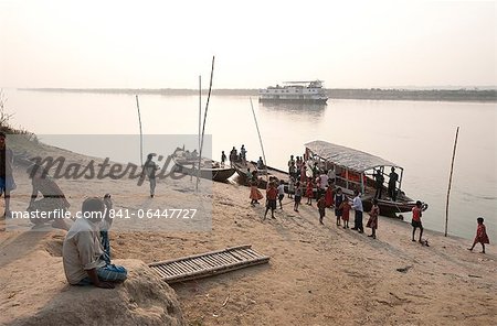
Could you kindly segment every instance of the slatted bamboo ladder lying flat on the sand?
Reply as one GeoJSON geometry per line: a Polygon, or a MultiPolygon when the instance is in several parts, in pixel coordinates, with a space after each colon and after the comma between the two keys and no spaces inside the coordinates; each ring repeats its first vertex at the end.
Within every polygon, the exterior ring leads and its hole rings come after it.
{"type": "Polygon", "coordinates": [[[208,278],[251,265],[263,264],[269,257],[260,254],[251,244],[226,248],[150,263],[162,281],[171,284],[208,278]]]}

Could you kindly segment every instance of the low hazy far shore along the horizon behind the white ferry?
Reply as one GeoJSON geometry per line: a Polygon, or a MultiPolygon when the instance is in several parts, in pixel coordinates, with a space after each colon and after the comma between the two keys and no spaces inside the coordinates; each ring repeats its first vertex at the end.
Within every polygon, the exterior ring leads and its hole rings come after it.
{"type": "MultiPolygon", "coordinates": [[[[54,93],[93,93],[93,94],[129,94],[129,95],[165,95],[198,96],[198,89],[187,88],[19,88],[19,90],[54,91],[54,93]]],[[[326,89],[329,100],[368,99],[368,100],[422,100],[422,101],[478,101],[497,102],[495,87],[470,88],[329,88],[326,89]]],[[[208,90],[202,90],[204,95],[208,90]]],[[[258,89],[214,89],[215,96],[258,96],[258,89]]]]}

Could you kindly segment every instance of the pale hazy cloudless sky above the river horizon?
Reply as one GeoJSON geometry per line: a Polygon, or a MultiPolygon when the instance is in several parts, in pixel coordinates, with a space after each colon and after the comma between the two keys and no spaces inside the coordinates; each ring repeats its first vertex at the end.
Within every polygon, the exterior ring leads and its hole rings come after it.
{"type": "Polygon", "coordinates": [[[497,85],[496,1],[0,0],[0,87],[497,85]]]}

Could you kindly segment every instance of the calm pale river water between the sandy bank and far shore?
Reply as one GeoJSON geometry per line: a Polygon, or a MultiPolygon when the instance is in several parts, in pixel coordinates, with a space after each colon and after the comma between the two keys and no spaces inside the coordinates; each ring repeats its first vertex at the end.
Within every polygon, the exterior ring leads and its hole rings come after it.
{"type": "MultiPolygon", "coordinates": [[[[8,112],[14,113],[12,124],[40,134],[42,140],[50,140],[51,134],[139,134],[131,95],[14,89],[4,95],[8,112]]],[[[205,100],[203,97],[203,107],[205,100]]],[[[268,165],[286,170],[289,155],[302,155],[304,144],[313,140],[381,156],[404,167],[403,191],[429,203],[423,224],[438,231],[444,230],[452,152],[459,127],[448,232],[473,238],[476,218],[483,216],[489,237],[497,240],[496,104],[330,99],[326,106],[275,106],[262,105],[255,97],[252,101],[268,165]]],[[[197,96],[142,95],[139,104],[145,134],[198,133],[197,96]]],[[[242,144],[248,159],[262,155],[250,97],[211,97],[205,133],[212,134],[215,160],[222,150],[228,155],[232,146],[242,144]]],[[[146,153],[160,152],[145,143],[146,153]]],[[[71,150],[102,154],[92,149],[88,144],[71,150]]]]}

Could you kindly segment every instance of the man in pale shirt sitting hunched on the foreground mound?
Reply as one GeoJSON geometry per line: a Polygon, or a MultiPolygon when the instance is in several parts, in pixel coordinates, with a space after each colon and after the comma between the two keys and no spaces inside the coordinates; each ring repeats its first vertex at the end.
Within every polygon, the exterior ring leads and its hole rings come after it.
{"type": "Polygon", "coordinates": [[[70,284],[114,289],[114,282],[126,280],[126,269],[110,264],[109,252],[104,250],[109,249],[108,237],[101,236],[101,230],[112,224],[110,208],[108,195],[104,200],[92,197],[83,203],[82,217],[73,224],[62,247],[64,272],[70,284]]]}

